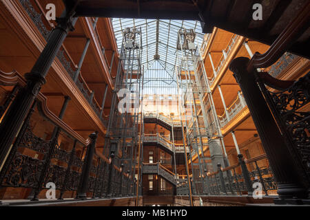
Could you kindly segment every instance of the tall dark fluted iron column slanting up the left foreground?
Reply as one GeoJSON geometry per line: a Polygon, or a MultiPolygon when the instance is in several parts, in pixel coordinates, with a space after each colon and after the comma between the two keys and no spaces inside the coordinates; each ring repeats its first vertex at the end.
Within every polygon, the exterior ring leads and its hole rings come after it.
{"type": "Polygon", "coordinates": [[[52,65],[59,48],[63,44],[65,37],[70,30],[74,30],[77,18],[73,17],[74,13],[63,12],[61,18],[57,19],[58,25],[50,34],[48,43],[45,45],[43,52],[32,67],[30,73],[25,74],[27,85],[20,89],[16,98],[10,105],[8,112],[3,117],[0,124],[0,165],[3,164],[14,137],[17,136],[19,128],[28,114],[28,111],[37,97],[41,86],[45,83],[45,76],[52,65]]]}

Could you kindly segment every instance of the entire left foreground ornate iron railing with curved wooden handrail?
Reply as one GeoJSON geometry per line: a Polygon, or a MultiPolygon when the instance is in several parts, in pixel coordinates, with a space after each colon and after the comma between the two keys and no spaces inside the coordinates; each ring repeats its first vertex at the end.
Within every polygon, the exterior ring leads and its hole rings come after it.
{"type": "MultiPolygon", "coordinates": [[[[3,96],[2,102],[7,103],[2,105],[5,114],[6,109],[14,100],[15,90],[23,87],[25,81],[16,72],[0,73],[0,85],[3,86],[4,91],[6,91],[6,86],[10,88],[15,86],[11,91],[12,94],[5,92],[6,96],[3,96]]],[[[52,115],[46,106],[46,99],[40,93],[25,118],[19,135],[14,140],[11,151],[0,170],[0,188],[19,188],[24,192],[28,192],[28,188],[32,188],[38,198],[45,198],[43,190],[48,189],[47,184],[52,182],[56,187],[56,197],[59,199],[72,198],[75,197],[83,179],[85,154],[90,145],[89,142],[74,133],[68,125],[56,118],[56,115],[52,115]],[[59,135],[54,135],[55,132],[58,132],[55,129],[59,129],[59,135]]],[[[86,177],[87,196],[104,197],[107,195],[110,162],[104,156],[99,157],[96,154],[91,159],[90,175],[86,177]]],[[[120,169],[113,166],[112,171],[116,173],[117,179],[121,173],[120,169]]],[[[124,189],[127,186],[125,185],[127,179],[127,176],[124,175],[124,184],[112,186],[112,190],[119,194],[120,188],[124,189]]],[[[20,195],[24,196],[23,193],[20,195]]],[[[114,195],[116,196],[116,194],[114,195]]],[[[4,197],[6,198],[6,196],[5,194],[4,197]]],[[[26,194],[25,196],[27,197],[26,194]]],[[[16,197],[15,199],[25,199],[26,197],[16,197]]]]}

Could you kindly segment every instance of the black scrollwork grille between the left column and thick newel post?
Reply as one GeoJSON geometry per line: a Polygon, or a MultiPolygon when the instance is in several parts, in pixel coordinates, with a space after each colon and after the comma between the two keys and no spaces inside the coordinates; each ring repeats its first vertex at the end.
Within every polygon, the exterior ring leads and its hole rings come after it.
{"type": "MultiPolygon", "coordinates": [[[[34,122],[43,121],[39,110],[30,113],[15,140],[12,151],[6,159],[0,174],[1,187],[45,188],[48,182],[53,182],[59,190],[77,190],[76,182],[81,177],[83,159],[81,159],[81,143],[74,141],[70,135],[61,131],[63,137],[61,146],[54,140],[47,140],[39,135],[34,122]],[[35,131],[34,131],[35,130],[35,131]],[[54,148],[49,158],[50,149],[54,148]],[[47,170],[43,167],[47,164],[47,170]],[[61,164],[61,165],[60,165],[61,164]],[[42,173],[45,172],[45,173],[42,173]],[[43,181],[40,177],[43,176],[43,181]],[[41,182],[41,186],[38,183],[41,182]]],[[[52,129],[52,124],[46,124],[52,129]]]]}

